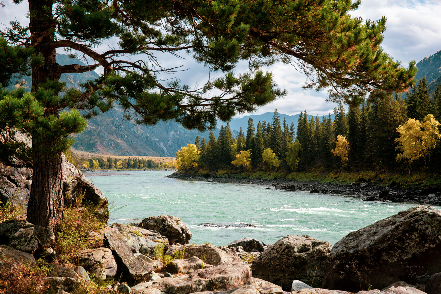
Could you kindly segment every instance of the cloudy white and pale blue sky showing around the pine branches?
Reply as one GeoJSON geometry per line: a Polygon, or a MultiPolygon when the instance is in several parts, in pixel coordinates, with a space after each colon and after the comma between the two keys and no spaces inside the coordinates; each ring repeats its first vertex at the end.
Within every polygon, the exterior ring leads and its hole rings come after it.
{"type": "MultiPolygon", "coordinates": [[[[26,24],[29,22],[25,17],[29,10],[27,1],[23,1],[19,5],[12,4],[10,0],[6,0],[4,3],[6,7],[0,8],[3,12],[0,15],[0,23],[7,24],[15,18],[26,24]]],[[[400,60],[404,66],[407,66],[411,60],[419,62],[425,56],[433,55],[441,50],[441,0],[365,0],[359,10],[353,11],[351,14],[372,20],[377,20],[385,15],[388,20],[382,46],[385,52],[394,59],[400,60]]],[[[109,41],[108,45],[115,46],[112,41],[109,41]]],[[[202,65],[194,63],[190,56],[186,56],[185,60],[177,60],[169,56],[161,60],[167,66],[182,64],[183,68],[188,68],[187,71],[176,73],[170,78],[180,78],[190,86],[201,85],[207,80],[206,69],[202,65]]],[[[236,67],[237,72],[246,70],[245,64],[239,64],[236,67]]],[[[288,95],[258,109],[254,112],[255,114],[272,112],[274,108],[278,108],[280,113],[288,115],[297,114],[305,109],[308,114],[312,115],[324,115],[332,112],[335,104],[325,102],[327,93],[325,91],[317,93],[315,90],[303,90],[305,76],[295,71],[292,66],[276,64],[268,70],[273,72],[278,86],[288,90],[288,95]]]]}

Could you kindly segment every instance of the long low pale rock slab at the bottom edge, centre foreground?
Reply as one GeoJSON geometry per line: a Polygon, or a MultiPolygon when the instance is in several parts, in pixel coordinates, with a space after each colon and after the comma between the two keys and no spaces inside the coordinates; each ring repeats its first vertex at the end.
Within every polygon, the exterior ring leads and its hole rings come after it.
{"type": "MultiPolygon", "coordinates": [[[[187,294],[202,291],[227,291],[241,285],[250,285],[251,269],[243,262],[228,262],[221,265],[202,268],[190,275],[178,275],[176,278],[159,278],[144,283],[143,288],[132,288],[134,294],[187,294]]],[[[255,289],[255,288],[254,288],[255,289]]]]}

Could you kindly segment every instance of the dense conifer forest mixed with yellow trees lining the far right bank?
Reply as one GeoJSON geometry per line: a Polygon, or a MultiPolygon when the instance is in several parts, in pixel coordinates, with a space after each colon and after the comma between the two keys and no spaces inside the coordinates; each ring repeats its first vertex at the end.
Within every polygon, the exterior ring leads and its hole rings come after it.
{"type": "Polygon", "coordinates": [[[413,86],[406,99],[389,95],[345,111],[343,104],[333,118],[308,119],[301,112],[297,122],[280,122],[277,109],[272,122],[248,120],[232,134],[229,123],[218,138],[196,137],[195,144],[176,153],[181,171],[435,171],[441,166],[441,84],[430,99],[426,78],[413,86]]]}

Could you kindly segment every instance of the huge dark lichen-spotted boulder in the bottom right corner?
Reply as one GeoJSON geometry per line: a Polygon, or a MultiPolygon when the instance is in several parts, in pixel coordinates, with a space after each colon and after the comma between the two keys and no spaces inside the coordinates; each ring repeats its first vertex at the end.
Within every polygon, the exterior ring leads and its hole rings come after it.
{"type": "Polygon", "coordinates": [[[351,232],[326,263],[324,288],[356,292],[396,281],[426,283],[441,272],[441,212],[415,206],[351,232]],[[423,242],[422,242],[423,241],[423,242]]]}

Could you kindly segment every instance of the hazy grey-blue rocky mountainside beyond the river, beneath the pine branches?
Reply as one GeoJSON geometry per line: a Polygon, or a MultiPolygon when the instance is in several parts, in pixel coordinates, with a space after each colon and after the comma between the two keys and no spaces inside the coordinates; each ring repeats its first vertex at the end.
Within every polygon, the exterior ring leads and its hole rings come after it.
{"type": "MultiPolygon", "coordinates": [[[[199,135],[208,140],[209,132],[187,130],[175,122],[159,122],[155,126],[122,121],[123,110],[115,107],[87,123],[86,130],[75,134],[75,149],[97,154],[123,156],[175,156],[199,135]]],[[[217,130],[215,135],[217,136],[217,130]]]]}

